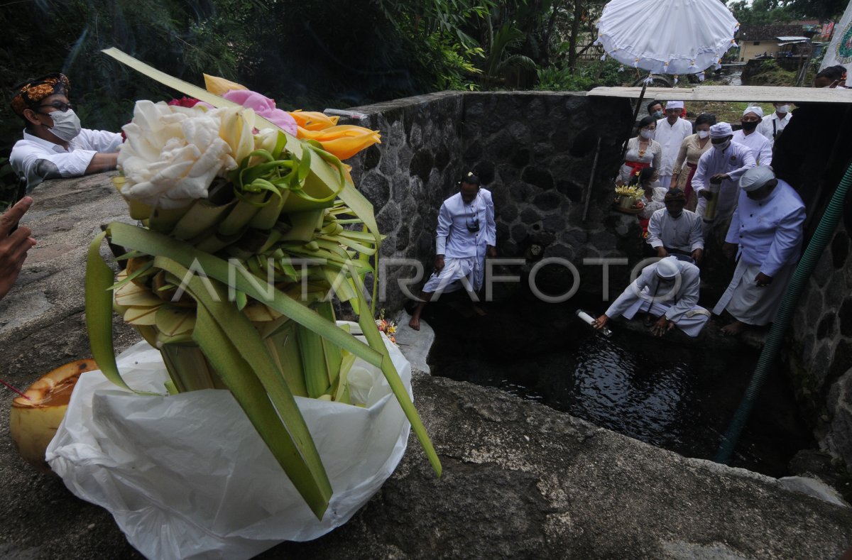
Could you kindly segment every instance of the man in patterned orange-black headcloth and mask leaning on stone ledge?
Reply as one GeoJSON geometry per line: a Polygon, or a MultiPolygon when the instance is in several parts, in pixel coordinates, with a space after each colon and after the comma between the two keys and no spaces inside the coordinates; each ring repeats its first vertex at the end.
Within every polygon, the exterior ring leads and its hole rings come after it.
{"type": "Polygon", "coordinates": [[[26,178],[26,191],[59,177],[115,169],[121,134],[80,127],[68,101],[71,85],[64,74],[47,74],[15,88],[12,109],[26,124],[9,163],[26,178]]]}

